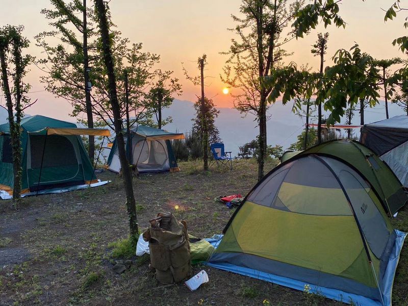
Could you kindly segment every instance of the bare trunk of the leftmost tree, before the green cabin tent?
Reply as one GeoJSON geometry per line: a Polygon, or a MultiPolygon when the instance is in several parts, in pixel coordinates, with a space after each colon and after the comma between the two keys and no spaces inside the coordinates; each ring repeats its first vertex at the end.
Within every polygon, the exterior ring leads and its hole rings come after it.
{"type": "MultiPolygon", "coordinates": [[[[11,151],[13,155],[13,202],[16,203],[20,199],[21,194],[21,142],[20,142],[20,120],[14,122],[13,101],[7,75],[6,53],[5,49],[0,49],[0,63],[2,68],[2,83],[3,92],[6,96],[6,106],[8,120],[10,126],[11,151]]],[[[19,87],[19,86],[17,86],[19,87]]],[[[18,89],[18,92],[19,89],[18,89]]],[[[19,93],[17,93],[19,95],[19,93]]],[[[19,107],[16,107],[18,110],[19,107]]]]}

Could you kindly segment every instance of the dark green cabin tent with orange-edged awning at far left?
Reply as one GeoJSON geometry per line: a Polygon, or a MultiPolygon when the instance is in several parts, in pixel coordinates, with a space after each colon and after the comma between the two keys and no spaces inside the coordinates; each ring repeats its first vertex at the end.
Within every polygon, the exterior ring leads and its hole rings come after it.
{"type": "MultiPolygon", "coordinates": [[[[82,129],[41,115],[23,118],[21,193],[96,183],[80,135],[108,136],[109,131],[82,129]]],[[[5,123],[0,125],[0,190],[12,195],[13,184],[10,126],[5,123]]]]}

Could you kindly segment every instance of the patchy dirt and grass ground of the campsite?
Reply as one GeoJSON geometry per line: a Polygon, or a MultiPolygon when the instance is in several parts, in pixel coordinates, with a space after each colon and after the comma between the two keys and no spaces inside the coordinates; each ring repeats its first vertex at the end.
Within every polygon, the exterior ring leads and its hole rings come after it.
{"type": "MultiPolygon", "coordinates": [[[[275,162],[267,164],[272,169],[275,162]]],[[[201,170],[182,163],[182,172],[134,179],[141,229],[161,211],[188,222],[196,237],[219,234],[233,210],[214,201],[218,195],[245,195],[256,183],[254,161],[235,161],[234,170],[201,170]],[[179,210],[174,206],[179,205],[179,210]]],[[[118,175],[112,183],[82,191],[25,198],[18,211],[0,202],[0,305],[340,305],[315,295],[213,268],[210,282],[190,292],[184,285],[163,286],[148,269],[149,257],[133,257],[133,266],[112,271],[108,244],[128,233],[124,192],[118,175]]],[[[394,220],[408,231],[405,208],[394,220]]],[[[396,305],[408,305],[408,251],[402,252],[394,284],[396,305]]]]}

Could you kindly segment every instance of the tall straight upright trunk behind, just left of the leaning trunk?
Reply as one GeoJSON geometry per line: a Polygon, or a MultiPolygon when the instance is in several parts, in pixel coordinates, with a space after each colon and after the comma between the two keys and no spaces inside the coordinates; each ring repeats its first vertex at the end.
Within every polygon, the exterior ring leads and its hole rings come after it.
{"type": "MultiPolygon", "coordinates": [[[[90,129],[93,129],[93,114],[92,114],[92,104],[91,104],[91,92],[90,89],[88,90],[88,82],[89,82],[89,72],[87,68],[89,66],[89,59],[88,59],[88,32],[87,32],[87,16],[86,16],[86,0],[83,1],[84,11],[83,11],[83,31],[84,31],[84,81],[85,81],[85,105],[86,105],[86,116],[87,116],[87,123],[90,129]]],[[[91,162],[94,162],[95,158],[95,137],[93,135],[88,136],[89,140],[89,148],[88,148],[88,156],[91,162]]]]}

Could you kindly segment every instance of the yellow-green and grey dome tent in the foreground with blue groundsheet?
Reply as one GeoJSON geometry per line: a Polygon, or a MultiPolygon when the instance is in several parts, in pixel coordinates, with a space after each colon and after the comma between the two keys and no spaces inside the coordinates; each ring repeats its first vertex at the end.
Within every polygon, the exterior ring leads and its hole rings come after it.
{"type": "Polygon", "coordinates": [[[224,228],[208,265],[354,305],[391,305],[406,234],[367,177],[324,154],[269,172],[224,228]]]}

